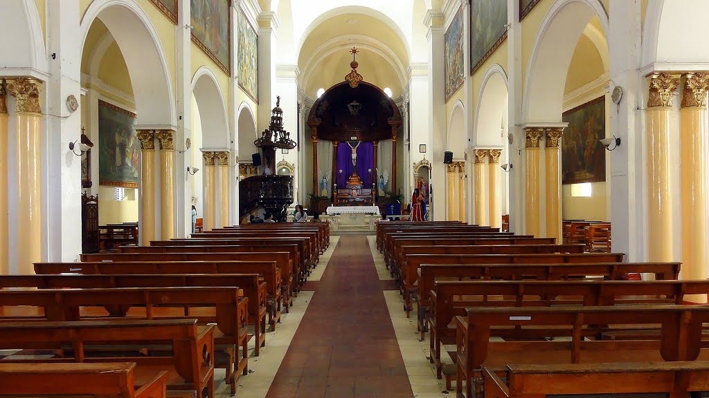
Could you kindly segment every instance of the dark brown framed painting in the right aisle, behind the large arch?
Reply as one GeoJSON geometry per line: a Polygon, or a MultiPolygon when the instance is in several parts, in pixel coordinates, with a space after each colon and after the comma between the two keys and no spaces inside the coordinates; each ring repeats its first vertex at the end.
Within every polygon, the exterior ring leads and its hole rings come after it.
{"type": "Polygon", "coordinates": [[[562,135],[562,183],[605,181],[605,97],[563,114],[569,123],[562,135]]]}

